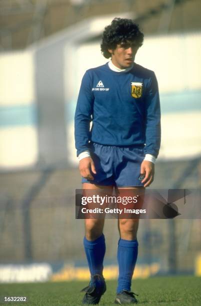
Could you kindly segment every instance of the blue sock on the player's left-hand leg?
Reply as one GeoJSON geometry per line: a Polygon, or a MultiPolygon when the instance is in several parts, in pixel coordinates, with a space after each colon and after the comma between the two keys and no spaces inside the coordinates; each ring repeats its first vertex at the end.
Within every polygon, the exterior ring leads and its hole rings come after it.
{"type": "Polygon", "coordinates": [[[105,254],[104,235],[102,234],[94,241],[89,241],[84,237],[83,244],[91,276],[94,274],[102,275],[105,254]]]}

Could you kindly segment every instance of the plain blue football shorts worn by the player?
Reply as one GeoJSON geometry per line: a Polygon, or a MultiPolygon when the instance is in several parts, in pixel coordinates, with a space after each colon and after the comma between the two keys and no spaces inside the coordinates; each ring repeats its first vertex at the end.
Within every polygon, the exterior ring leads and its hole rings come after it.
{"type": "Polygon", "coordinates": [[[91,157],[95,164],[94,180],[82,177],[82,183],[97,185],[143,186],[140,165],[144,159],[144,146],[115,146],[90,143],[91,157]]]}

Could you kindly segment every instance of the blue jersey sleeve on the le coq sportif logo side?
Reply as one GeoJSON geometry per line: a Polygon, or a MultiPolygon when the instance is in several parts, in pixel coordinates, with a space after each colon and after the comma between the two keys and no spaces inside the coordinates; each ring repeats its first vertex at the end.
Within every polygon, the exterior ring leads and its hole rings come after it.
{"type": "Polygon", "coordinates": [[[91,87],[90,75],[86,71],[81,81],[74,116],[74,137],[77,156],[88,149],[88,142],[90,140],[90,121],[93,112],[91,87]]]}

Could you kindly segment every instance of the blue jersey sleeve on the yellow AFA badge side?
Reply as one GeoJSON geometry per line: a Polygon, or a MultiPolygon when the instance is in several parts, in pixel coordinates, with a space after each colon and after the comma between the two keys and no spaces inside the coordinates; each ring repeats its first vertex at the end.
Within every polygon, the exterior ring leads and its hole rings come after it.
{"type": "Polygon", "coordinates": [[[154,72],[149,82],[145,98],[145,147],[144,152],[158,155],[160,148],[160,101],[154,72]]]}

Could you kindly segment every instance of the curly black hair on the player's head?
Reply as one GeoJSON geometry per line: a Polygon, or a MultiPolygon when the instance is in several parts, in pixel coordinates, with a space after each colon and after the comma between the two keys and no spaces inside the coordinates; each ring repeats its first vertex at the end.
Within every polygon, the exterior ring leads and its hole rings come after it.
{"type": "Polygon", "coordinates": [[[101,52],[104,57],[109,58],[111,54],[108,49],[115,49],[121,42],[135,42],[141,46],[143,37],[144,34],[139,30],[138,24],[131,19],[116,17],[104,28],[100,44],[101,52]]]}

